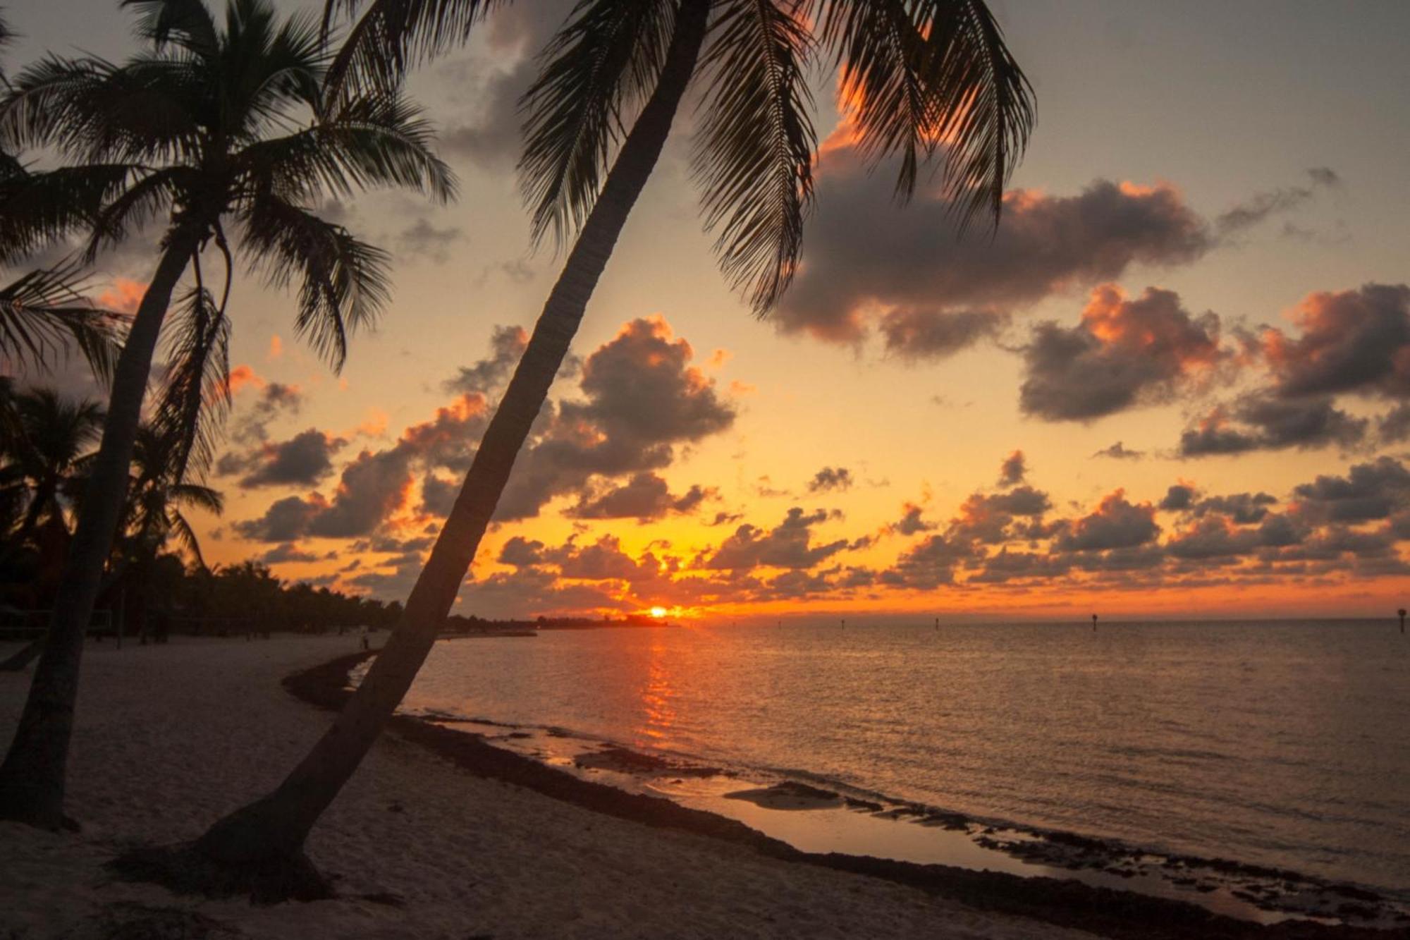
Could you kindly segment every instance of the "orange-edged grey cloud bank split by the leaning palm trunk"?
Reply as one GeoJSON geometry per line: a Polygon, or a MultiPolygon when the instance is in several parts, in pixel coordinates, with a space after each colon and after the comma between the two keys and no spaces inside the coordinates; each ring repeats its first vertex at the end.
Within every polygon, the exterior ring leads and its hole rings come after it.
{"type": "MultiPolygon", "coordinates": [[[[516,330],[496,330],[491,357],[461,370],[451,384],[470,388],[501,381],[520,342],[516,330]]],[[[689,343],[674,337],[661,318],[625,325],[584,363],[584,398],[548,402],[540,412],[496,519],[537,515],[548,500],[570,493],[580,497],[577,511],[584,518],[619,518],[608,514],[643,508],[642,498],[658,480],[650,471],[668,466],[677,445],[701,440],[735,421],[735,411],[719,398],[713,380],[691,366],[692,356],[689,343]],[[623,486],[599,480],[599,488],[589,491],[595,478],[616,477],[633,478],[623,486]]],[[[448,510],[458,483],[434,471],[464,474],[488,422],[486,395],[464,391],[431,419],[406,428],[391,447],[362,450],[343,469],[331,497],[306,497],[302,514],[281,501],[275,504],[279,518],[252,519],[235,531],[259,541],[299,535],[355,538],[378,531],[393,517],[415,521],[439,515],[437,510],[448,510]],[[420,501],[413,498],[417,480],[420,501]],[[302,531],[288,535],[300,522],[302,531]]],[[[667,493],[663,505],[688,512],[709,495],[712,491],[692,487],[678,495],[667,493]]]]}

